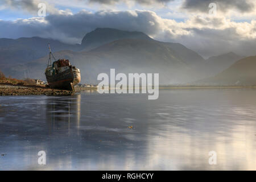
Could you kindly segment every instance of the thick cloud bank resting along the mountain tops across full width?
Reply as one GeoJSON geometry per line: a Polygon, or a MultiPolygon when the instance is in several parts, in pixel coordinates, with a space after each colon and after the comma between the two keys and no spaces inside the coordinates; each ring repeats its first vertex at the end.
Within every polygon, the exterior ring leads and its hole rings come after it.
{"type": "MultiPolygon", "coordinates": [[[[9,0],[4,0],[10,3],[9,0]]],[[[24,6],[27,11],[34,9],[37,0],[26,0],[23,3],[11,2],[11,7],[24,6]],[[31,3],[27,6],[26,3],[31,3]]],[[[113,0],[114,1],[114,0],[113,0]]],[[[199,0],[196,0],[200,2],[199,0]]],[[[204,3],[186,0],[183,6],[191,10],[203,10],[204,3]]],[[[105,1],[99,1],[107,3],[105,1]]],[[[158,1],[168,2],[168,1],[158,1]]],[[[207,1],[204,1],[207,2],[207,1]]],[[[218,1],[217,1],[218,2],[218,1]]],[[[243,7],[240,2],[229,5],[230,1],[222,1],[229,9],[250,11],[251,1],[243,7]]],[[[242,1],[241,1],[242,2],[242,1]]],[[[207,2],[208,3],[208,2],[207,2]]],[[[186,20],[177,22],[174,19],[164,19],[154,11],[127,10],[113,11],[102,10],[92,13],[82,10],[72,14],[70,11],[56,10],[46,17],[34,17],[29,19],[17,19],[14,21],[0,20],[1,38],[20,38],[40,36],[43,38],[57,39],[65,43],[81,43],[87,32],[97,27],[117,28],[128,31],[142,31],[152,38],[164,42],[179,42],[191,48],[201,55],[208,57],[234,51],[240,55],[255,55],[256,52],[256,21],[234,22],[223,15],[189,15],[186,20]]],[[[224,10],[223,10],[224,11],[224,10]]]]}

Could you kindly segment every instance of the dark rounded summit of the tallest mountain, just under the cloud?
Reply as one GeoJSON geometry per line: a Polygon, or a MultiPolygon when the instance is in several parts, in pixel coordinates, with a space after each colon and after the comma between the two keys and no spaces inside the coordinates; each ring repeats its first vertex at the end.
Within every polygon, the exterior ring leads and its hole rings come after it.
{"type": "Polygon", "coordinates": [[[122,31],[114,28],[96,28],[84,36],[81,45],[84,47],[84,50],[90,50],[120,39],[153,40],[143,32],[122,31]]]}

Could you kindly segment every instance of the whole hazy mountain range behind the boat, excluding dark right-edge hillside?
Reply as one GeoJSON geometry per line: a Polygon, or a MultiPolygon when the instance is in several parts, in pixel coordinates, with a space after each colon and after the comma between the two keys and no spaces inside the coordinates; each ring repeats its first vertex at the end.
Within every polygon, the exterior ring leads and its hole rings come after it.
{"type": "Polygon", "coordinates": [[[185,84],[217,75],[243,58],[230,52],[205,60],[182,44],[159,42],[143,32],[96,28],[75,45],[38,37],[0,39],[3,73],[46,80],[48,43],[56,59],[69,59],[80,68],[82,82],[90,83],[115,68],[123,73],[159,73],[163,85],[185,84]]]}

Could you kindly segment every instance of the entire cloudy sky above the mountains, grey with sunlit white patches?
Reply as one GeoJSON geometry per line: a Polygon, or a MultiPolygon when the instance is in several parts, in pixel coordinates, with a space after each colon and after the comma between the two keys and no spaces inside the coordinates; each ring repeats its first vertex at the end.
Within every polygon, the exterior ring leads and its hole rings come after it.
{"type": "MultiPolygon", "coordinates": [[[[2,9],[16,9],[17,11],[22,9],[31,14],[36,14],[38,11],[39,0],[2,1],[5,2],[0,6],[2,9]]],[[[2,27],[0,35],[2,38],[40,36],[65,43],[81,43],[87,32],[97,27],[109,27],[142,31],[156,40],[178,42],[203,56],[229,51],[237,51],[242,55],[255,54],[256,11],[255,2],[251,0],[242,0],[241,3],[245,3],[242,7],[240,1],[215,1],[218,5],[216,15],[208,14],[210,2],[208,0],[203,2],[196,0],[197,3],[189,0],[152,0],[147,3],[148,7],[159,7],[159,10],[127,10],[125,7],[117,6],[130,2],[133,4],[130,6],[138,7],[139,4],[141,7],[146,1],[75,1],[76,5],[71,5],[71,2],[66,0],[57,0],[54,1],[55,3],[43,1],[47,4],[47,10],[49,8],[46,17],[13,21],[3,18],[0,20],[2,27]],[[164,5],[164,9],[156,4],[164,5]],[[72,10],[65,9],[68,5],[71,5],[70,7],[81,6],[81,9],[90,6],[88,9],[94,10],[84,9],[73,13],[72,10]],[[113,9],[109,10],[106,7],[113,7],[113,9]]]]}

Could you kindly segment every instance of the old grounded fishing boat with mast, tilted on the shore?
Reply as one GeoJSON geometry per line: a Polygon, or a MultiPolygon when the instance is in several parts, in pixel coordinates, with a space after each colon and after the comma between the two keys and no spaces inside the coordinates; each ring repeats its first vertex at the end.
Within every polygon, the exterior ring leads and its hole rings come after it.
{"type": "Polygon", "coordinates": [[[73,67],[69,60],[59,59],[56,61],[49,46],[49,59],[46,68],[46,79],[51,88],[74,90],[74,85],[81,81],[80,70],[73,67]],[[51,64],[51,57],[55,60],[51,64]]]}

